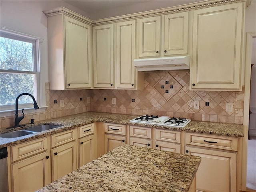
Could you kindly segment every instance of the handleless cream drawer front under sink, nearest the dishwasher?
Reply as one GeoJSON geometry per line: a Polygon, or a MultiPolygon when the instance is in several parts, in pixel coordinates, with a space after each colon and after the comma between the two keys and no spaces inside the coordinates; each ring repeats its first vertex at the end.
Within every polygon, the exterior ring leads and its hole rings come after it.
{"type": "Polygon", "coordinates": [[[12,162],[47,150],[47,137],[11,146],[12,162]]]}

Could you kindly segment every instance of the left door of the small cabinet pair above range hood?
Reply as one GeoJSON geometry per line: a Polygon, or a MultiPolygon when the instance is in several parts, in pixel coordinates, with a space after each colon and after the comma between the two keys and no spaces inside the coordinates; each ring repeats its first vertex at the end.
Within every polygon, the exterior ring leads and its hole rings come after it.
{"type": "Polygon", "coordinates": [[[139,57],[160,56],[160,16],[139,20],[139,57]]]}

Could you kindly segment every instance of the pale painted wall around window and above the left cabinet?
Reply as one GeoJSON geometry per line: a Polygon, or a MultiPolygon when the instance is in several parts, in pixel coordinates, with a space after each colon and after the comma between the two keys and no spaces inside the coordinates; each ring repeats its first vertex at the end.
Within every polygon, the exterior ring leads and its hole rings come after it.
{"type": "Polygon", "coordinates": [[[0,1],[0,27],[44,39],[40,43],[41,106],[45,105],[45,82],[48,82],[47,18],[43,10],[64,6],[78,14],[86,12],[64,1],[0,1]]]}

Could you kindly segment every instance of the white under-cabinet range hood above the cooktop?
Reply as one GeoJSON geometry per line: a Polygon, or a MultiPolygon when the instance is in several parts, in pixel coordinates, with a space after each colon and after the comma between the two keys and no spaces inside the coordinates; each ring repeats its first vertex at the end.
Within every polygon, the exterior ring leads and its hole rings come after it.
{"type": "Polygon", "coordinates": [[[138,71],[182,70],[189,69],[190,56],[134,59],[138,71]]]}

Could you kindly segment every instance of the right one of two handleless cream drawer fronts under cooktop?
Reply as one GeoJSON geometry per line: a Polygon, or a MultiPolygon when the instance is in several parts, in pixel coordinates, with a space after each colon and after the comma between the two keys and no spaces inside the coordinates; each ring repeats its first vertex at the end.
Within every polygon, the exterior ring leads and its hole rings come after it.
{"type": "Polygon", "coordinates": [[[180,132],[156,129],[156,140],[180,143],[180,132]]]}

